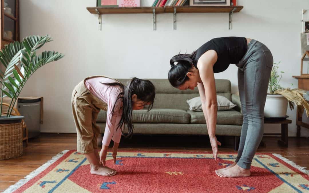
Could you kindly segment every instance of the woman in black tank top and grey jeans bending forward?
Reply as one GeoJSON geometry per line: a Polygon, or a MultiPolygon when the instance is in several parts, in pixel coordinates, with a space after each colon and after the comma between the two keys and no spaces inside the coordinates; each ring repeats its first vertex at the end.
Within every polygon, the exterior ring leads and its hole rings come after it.
{"type": "Polygon", "coordinates": [[[239,150],[235,163],[216,170],[216,174],[227,178],[250,176],[252,158],[264,132],[264,106],[273,67],[273,56],[269,49],[245,37],[214,38],[192,54],[172,57],[170,64],[168,79],[172,86],[180,90],[193,90],[197,86],[199,90],[215,160],[221,143],[215,136],[217,98],[214,73],[236,64],[243,113],[239,150]]]}

